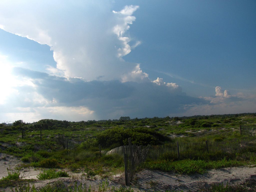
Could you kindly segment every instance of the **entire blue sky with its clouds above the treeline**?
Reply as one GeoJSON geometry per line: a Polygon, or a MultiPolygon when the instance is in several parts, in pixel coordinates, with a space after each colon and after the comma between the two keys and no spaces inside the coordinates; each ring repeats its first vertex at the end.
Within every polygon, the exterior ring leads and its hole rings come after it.
{"type": "Polygon", "coordinates": [[[256,2],[0,1],[0,122],[256,112],[256,2]]]}

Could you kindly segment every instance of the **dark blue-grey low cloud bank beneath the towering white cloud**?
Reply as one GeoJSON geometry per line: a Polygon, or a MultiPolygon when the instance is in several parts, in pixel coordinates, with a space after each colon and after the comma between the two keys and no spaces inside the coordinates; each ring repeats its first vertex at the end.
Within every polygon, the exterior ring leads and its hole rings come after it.
{"type": "MultiPolygon", "coordinates": [[[[204,99],[189,97],[180,90],[170,91],[167,84],[159,86],[150,81],[84,81],[80,78],[67,79],[19,67],[15,67],[13,71],[18,77],[29,79],[31,86],[21,85],[15,88],[15,102],[14,98],[10,97],[5,105],[13,109],[12,113],[16,113],[17,108],[31,109],[30,113],[34,111],[45,117],[43,111],[49,110],[52,118],[64,119],[66,113],[60,113],[61,110],[58,109],[70,111],[71,108],[84,108],[84,113],[75,110],[76,114],[80,114],[80,120],[83,117],[119,119],[123,115],[143,118],[167,116],[171,112],[184,111],[184,105],[207,103],[204,99]]],[[[28,111],[24,113],[28,114],[28,111]]]]}

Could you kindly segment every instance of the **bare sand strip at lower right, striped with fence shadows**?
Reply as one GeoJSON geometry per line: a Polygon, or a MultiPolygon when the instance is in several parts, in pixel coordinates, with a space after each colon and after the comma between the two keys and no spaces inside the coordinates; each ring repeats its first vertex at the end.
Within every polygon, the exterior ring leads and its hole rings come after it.
{"type": "Polygon", "coordinates": [[[256,167],[228,167],[212,169],[203,175],[180,175],[156,170],[143,170],[135,175],[135,185],[141,190],[155,188],[157,190],[196,191],[199,187],[209,187],[213,183],[241,184],[246,179],[256,180],[256,167]]]}

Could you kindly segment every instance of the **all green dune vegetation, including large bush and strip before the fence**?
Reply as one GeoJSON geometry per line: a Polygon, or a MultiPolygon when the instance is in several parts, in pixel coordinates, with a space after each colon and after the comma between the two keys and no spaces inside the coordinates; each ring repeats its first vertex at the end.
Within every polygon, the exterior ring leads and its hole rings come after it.
{"type": "MultiPolygon", "coordinates": [[[[243,137],[240,135],[239,125],[255,127],[256,114],[143,119],[121,117],[119,120],[80,122],[44,119],[25,123],[17,120],[12,124],[0,124],[0,152],[20,157],[24,166],[51,168],[41,173],[38,176],[40,179],[62,177],[61,173],[53,174],[52,170],[56,168],[84,172],[88,177],[100,175],[105,178],[110,172],[124,172],[123,156],[101,155],[99,145],[102,151],[109,150],[127,145],[129,137],[132,138],[132,144],[137,145],[158,145],[177,141],[230,141],[243,137]]],[[[255,152],[223,155],[220,158],[205,156],[182,161],[174,158],[161,162],[147,159],[142,167],[186,174],[204,173],[211,168],[256,164],[255,152]]],[[[17,174],[16,179],[15,173],[8,175],[11,179],[1,179],[0,187],[15,183],[9,182],[10,180],[21,180],[17,174]]],[[[29,190],[33,191],[33,187],[29,190]]],[[[44,191],[47,190],[50,191],[46,188],[44,191]]]]}

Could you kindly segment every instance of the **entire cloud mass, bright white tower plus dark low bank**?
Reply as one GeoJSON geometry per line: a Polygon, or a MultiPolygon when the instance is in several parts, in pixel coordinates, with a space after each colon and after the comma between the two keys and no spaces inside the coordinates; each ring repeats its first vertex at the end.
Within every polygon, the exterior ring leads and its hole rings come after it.
{"type": "Polygon", "coordinates": [[[47,44],[56,61],[11,63],[0,55],[4,64],[0,80],[5,86],[5,97],[0,98],[1,118],[80,121],[255,109],[255,95],[231,95],[216,87],[215,96],[190,97],[176,83],[159,77],[151,81],[140,64],[124,61],[122,57],[141,44],[128,33],[138,8],[127,5],[113,11],[109,1],[99,0],[28,0],[12,2],[11,6],[10,1],[0,1],[0,28],[47,44]]]}

